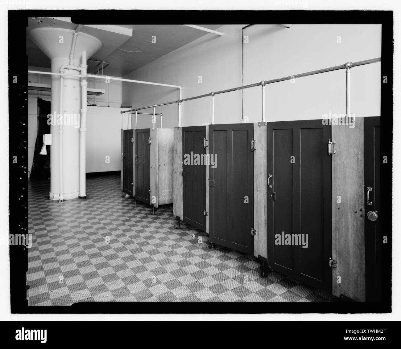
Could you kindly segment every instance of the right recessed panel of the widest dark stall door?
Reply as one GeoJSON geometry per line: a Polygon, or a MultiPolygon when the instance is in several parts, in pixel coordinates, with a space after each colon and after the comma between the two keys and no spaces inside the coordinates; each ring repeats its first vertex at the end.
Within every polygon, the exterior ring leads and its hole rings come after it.
{"type": "Polygon", "coordinates": [[[299,249],[300,273],[302,281],[316,283],[318,287],[324,286],[325,278],[331,279],[330,269],[325,263],[328,254],[326,246],[331,246],[326,241],[331,241],[331,234],[326,234],[326,231],[331,231],[326,229],[327,225],[331,225],[331,213],[326,215],[326,211],[331,212],[331,203],[327,200],[327,196],[331,197],[331,155],[327,154],[330,134],[327,131],[327,127],[300,129],[299,233],[303,237],[308,236],[303,241],[305,248],[299,249]]]}

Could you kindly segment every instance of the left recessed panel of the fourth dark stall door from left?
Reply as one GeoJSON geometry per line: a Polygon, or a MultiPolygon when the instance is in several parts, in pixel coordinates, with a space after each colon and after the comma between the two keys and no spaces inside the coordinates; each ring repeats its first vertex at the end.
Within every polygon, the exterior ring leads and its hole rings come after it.
{"type": "Polygon", "coordinates": [[[209,166],[209,205],[210,218],[209,239],[212,243],[226,246],[229,241],[229,214],[228,214],[228,154],[227,154],[227,130],[213,130],[209,126],[209,154],[217,156],[217,167],[209,166]],[[212,183],[211,183],[212,181],[212,183]]]}

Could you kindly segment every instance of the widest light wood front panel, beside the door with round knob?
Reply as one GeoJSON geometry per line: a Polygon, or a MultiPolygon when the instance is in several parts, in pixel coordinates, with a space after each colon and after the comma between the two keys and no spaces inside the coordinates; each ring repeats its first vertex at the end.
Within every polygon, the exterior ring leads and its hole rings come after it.
{"type": "MultiPolygon", "coordinates": [[[[354,127],[332,125],[333,295],[365,301],[365,219],[363,118],[354,127]],[[341,203],[339,203],[341,200],[341,203]],[[341,278],[341,279],[339,279],[341,278]]],[[[328,262],[327,262],[328,263],[328,262]]]]}

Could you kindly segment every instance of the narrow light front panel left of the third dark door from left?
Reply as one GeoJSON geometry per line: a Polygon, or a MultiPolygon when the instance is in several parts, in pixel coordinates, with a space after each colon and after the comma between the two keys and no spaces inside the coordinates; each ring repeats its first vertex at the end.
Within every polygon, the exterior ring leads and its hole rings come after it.
{"type": "Polygon", "coordinates": [[[182,213],[182,127],[174,128],[174,146],[173,146],[173,216],[183,220],[182,213]]]}

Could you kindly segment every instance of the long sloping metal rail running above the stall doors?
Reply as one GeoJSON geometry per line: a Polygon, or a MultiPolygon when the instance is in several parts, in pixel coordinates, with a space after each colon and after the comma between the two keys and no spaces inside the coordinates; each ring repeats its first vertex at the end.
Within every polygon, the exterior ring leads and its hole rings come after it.
{"type": "MultiPolygon", "coordinates": [[[[354,63],[352,63],[352,66],[353,67],[354,66],[361,66],[361,65],[372,64],[372,63],[377,63],[377,62],[381,62],[381,57],[367,59],[367,60],[361,60],[359,62],[354,62],[354,63]]],[[[233,91],[238,91],[238,90],[242,90],[242,89],[245,89],[245,88],[262,86],[263,84],[265,84],[265,85],[274,84],[275,82],[292,80],[294,78],[302,78],[304,76],[316,75],[316,74],[321,74],[321,73],[325,73],[325,72],[332,72],[334,70],[341,70],[341,69],[344,69],[344,68],[345,68],[344,64],[342,64],[342,65],[338,65],[338,66],[332,66],[330,68],[312,70],[312,71],[306,72],[306,73],[289,75],[289,76],[285,76],[284,78],[277,78],[277,79],[273,79],[273,80],[263,80],[261,82],[255,82],[254,84],[249,84],[249,85],[245,85],[245,86],[238,86],[238,87],[234,87],[234,88],[229,88],[228,90],[221,90],[221,91],[212,92],[212,93],[214,95],[216,95],[216,94],[222,94],[222,93],[227,93],[227,92],[233,92],[233,91]]],[[[193,96],[193,97],[184,98],[184,99],[180,99],[180,100],[172,100],[170,102],[164,102],[164,103],[160,103],[160,104],[152,104],[150,106],[144,106],[144,107],[141,107],[141,108],[131,109],[131,110],[127,110],[127,111],[143,110],[143,109],[153,108],[153,106],[157,107],[157,106],[163,106],[163,105],[174,104],[174,103],[179,103],[180,104],[181,102],[185,102],[187,100],[194,100],[194,99],[210,97],[210,96],[211,96],[211,93],[201,94],[199,96],[193,96]]]]}

